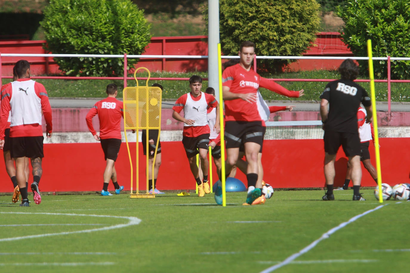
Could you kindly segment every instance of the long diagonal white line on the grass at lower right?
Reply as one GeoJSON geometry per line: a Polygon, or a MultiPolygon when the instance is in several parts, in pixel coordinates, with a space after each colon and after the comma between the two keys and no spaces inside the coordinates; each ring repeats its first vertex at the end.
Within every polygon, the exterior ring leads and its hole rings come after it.
{"type": "MultiPolygon", "coordinates": [[[[388,204],[386,204],[388,205],[388,204]]],[[[374,212],[380,208],[383,208],[386,205],[379,205],[378,207],[371,209],[371,210],[367,210],[365,212],[363,212],[362,214],[358,214],[355,217],[349,219],[347,222],[343,222],[341,223],[339,226],[335,227],[335,228],[331,228],[330,230],[328,230],[327,232],[323,233],[323,235],[313,241],[310,245],[306,246],[305,248],[303,248],[301,251],[299,251],[298,253],[294,253],[292,255],[290,255],[289,257],[287,257],[285,260],[283,260],[282,262],[280,262],[279,264],[276,264],[274,266],[271,266],[269,268],[266,268],[265,270],[261,271],[260,273],[269,273],[272,271],[275,271],[278,268],[281,268],[282,266],[285,266],[291,262],[293,262],[296,258],[300,257],[301,255],[309,252],[312,248],[314,248],[317,244],[319,244],[321,241],[323,241],[324,239],[328,239],[330,237],[330,235],[332,235],[333,233],[335,233],[337,230],[344,228],[345,226],[347,226],[350,223],[353,223],[354,221],[356,221],[357,219],[359,219],[360,217],[363,217],[366,214],[369,214],[371,212],[374,212]]]]}

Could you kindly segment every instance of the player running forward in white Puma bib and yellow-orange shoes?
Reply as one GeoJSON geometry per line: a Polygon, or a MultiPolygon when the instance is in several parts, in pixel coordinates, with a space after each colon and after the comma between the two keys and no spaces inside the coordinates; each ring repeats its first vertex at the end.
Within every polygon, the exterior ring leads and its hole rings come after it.
{"type": "Polygon", "coordinates": [[[214,96],[201,92],[202,78],[197,75],[189,78],[189,88],[191,92],[182,95],[172,107],[172,117],[175,120],[184,122],[182,131],[182,144],[189,161],[189,167],[198,185],[198,196],[202,197],[211,192],[208,183],[209,160],[208,144],[210,128],[207,122],[207,108],[216,108],[216,123],[213,130],[219,133],[219,103],[214,96]],[[184,117],[180,112],[184,110],[184,117]],[[201,160],[201,169],[204,174],[204,180],[199,178],[199,170],[196,165],[196,155],[199,153],[201,160]]]}

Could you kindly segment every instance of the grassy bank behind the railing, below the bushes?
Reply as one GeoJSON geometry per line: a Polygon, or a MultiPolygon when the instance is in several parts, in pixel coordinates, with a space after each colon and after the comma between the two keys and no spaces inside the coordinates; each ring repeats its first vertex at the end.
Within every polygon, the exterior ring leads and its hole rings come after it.
{"type": "MultiPolygon", "coordinates": [[[[175,72],[151,72],[151,77],[163,78],[189,78],[193,74],[198,74],[206,78],[206,72],[189,72],[189,73],[175,73],[175,72]]],[[[316,70],[316,71],[301,71],[288,72],[278,75],[264,74],[266,78],[272,79],[337,79],[339,77],[336,71],[316,70]]],[[[132,75],[130,75],[132,77],[132,75]]],[[[141,77],[146,75],[141,74],[141,77]]],[[[360,78],[364,79],[364,78],[360,78]]],[[[3,79],[3,84],[7,83],[9,79],[3,79]]],[[[112,80],[54,80],[54,79],[38,79],[42,83],[50,97],[105,97],[105,87],[112,80]]],[[[114,81],[119,86],[119,96],[122,97],[123,81],[121,79],[114,81]]],[[[189,92],[189,83],[187,80],[150,80],[148,85],[158,82],[164,86],[164,93],[162,98],[164,100],[177,99],[182,94],[189,92]]],[[[303,101],[318,101],[319,96],[326,86],[326,82],[320,81],[278,81],[282,86],[289,90],[305,90],[305,95],[297,100],[303,101]]],[[[369,83],[360,83],[369,93],[369,83]]],[[[128,86],[135,86],[134,80],[128,80],[128,86]]],[[[139,86],[145,86],[146,81],[139,81],[139,86]]],[[[208,82],[203,82],[203,91],[208,87],[208,82]]],[[[410,102],[410,83],[391,83],[391,96],[393,102],[410,102]]],[[[387,83],[375,83],[376,101],[387,101],[387,83]]],[[[262,96],[265,100],[285,100],[286,97],[273,93],[266,89],[261,89],[262,96]]]]}

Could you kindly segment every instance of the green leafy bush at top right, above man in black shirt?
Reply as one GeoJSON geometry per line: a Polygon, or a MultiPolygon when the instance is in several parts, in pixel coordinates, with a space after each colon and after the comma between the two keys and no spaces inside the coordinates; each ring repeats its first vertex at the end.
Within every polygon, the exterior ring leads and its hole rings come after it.
{"type": "MultiPolygon", "coordinates": [[[[351,1],[337,9],[346,26],[344,43],[355,56],[367,56],[367,40],[374,57],[410,56],[410,2],[408,0],[351,1]]],[[[361,72],[367,72],[367,61],[359,61],[361,72]]],[[[387,77],[386,61],[374,61],[375,77],[387,77]]],[[[392,79],[408,79],[410,61],[391,62],[392,79]]]]}

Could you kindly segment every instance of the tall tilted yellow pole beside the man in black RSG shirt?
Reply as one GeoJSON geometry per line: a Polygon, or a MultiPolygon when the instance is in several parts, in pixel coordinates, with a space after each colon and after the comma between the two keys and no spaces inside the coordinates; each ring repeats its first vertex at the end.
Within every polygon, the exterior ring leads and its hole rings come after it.
{"type": "Polygon", "coordinates": [[[374,91],[374,72],[373,72],[373,54],[371,52],[371,40],[367,40],[367,55],[369,56],[369,77],[370,77],[370,96],[371,105],[373,106],[373,128],[374,128],[374,144],[376,152],[376,170],[377,170],[377,184],[379,187],[379,202],[383,203],[383,189],[382,189],[382,173],[380,167],[380,148],[379,148],[379,134],[377,131],[377,112],[376,112],[376,94],[374,91]]]}

